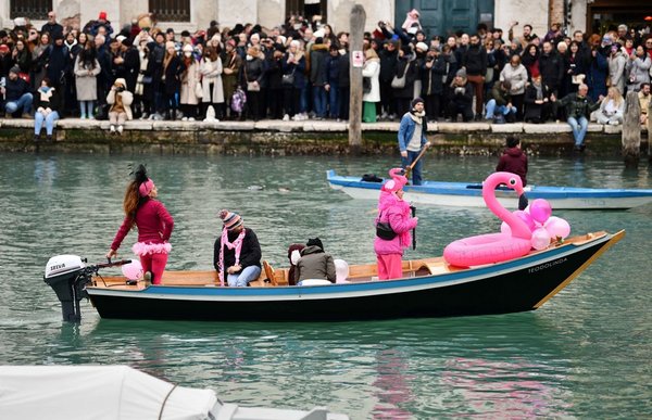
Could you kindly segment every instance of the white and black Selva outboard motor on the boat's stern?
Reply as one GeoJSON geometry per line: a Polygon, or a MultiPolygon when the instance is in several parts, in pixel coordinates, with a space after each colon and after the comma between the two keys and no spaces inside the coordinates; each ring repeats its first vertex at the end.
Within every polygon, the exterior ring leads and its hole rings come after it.
{"type": "Polygon", "coordinates": [[[53,256],[46,266],[43,281],[54,290],[61,301],[63,320],[78,322],[82,319],[79,301],[88,297],[85,287],[90,281],[85,260],[77,255],[53,256]]]}

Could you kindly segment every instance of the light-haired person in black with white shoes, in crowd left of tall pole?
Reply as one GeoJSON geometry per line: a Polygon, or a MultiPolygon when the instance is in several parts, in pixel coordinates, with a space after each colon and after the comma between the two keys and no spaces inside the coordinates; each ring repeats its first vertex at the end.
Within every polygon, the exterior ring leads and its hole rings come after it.
{"type": "Polygon", "coordinates": [[[290,41],[290,48],[283,58],[283,74],[291,77],[291,84],[286,82],[284,92],[284,109],[288,118],[292,120],[302,120],[308,118],[301,107],[301,90],[304,88],[305,80],[305,55],[301,49],[301,41],[293,39],[290,41]]]}

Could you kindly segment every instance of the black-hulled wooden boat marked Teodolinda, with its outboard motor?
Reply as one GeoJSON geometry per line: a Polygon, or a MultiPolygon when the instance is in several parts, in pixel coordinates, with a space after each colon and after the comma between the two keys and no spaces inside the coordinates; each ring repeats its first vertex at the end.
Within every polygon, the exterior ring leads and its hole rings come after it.
{"type": "MultiPolygon", "coordinates": [[[[62,301],[64,319],[78,321],[88,296],[103,318],[216,321],[350,321],[505,314],[539,308],[625,231],[588,233],[504,263],[459,268],[443,258],[403,263],[403,278],[374,281],[376,265],[351,266],[347,283],[287,285],[287,269],[264,264],[250,288],[220,287],[215,271],[166,271],[163,284],[127,285],[51,258],[45,281],[62,301]],[[75,306],[76,305],[76,306],[75,306]]],[[[78,257],[76,257],[78,258],[78,257]]]]}

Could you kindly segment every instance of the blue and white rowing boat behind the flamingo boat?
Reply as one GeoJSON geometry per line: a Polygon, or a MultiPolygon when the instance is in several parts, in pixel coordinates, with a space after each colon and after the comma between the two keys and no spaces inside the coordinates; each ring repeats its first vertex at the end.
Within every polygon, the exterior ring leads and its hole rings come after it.
{"type": "MultiPolygon", "coordinates": [[[[327,180],[335,190],[341,190],[353,199],[378,200],[383,182],[367,182],[360,177],[339,176],[327,171],[327,180]]],[[[482,186],[472,182],[425,181],[422,186],[405,186],[405,198],[415,204],[454,207],[485,207],[482,186]]],[[[528,186],[529,200],[546,199],[554,209],[623,209],[652,203],[652,189],[606,189],[528,186]]],[[[496,198],[505,208],[516,207],[516,193],[512,190],[496,191],[496,198]]]]}

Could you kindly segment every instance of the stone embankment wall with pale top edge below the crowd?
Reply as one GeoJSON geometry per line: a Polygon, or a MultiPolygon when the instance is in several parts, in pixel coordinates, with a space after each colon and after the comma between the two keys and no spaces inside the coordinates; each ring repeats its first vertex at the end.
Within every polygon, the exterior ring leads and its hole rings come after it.
{"type": "MultiPolygon", "coordinates": [[[[399,123],[362,124],[366,155],[397,153],[399,123]]],[[[430,123],[430,153],[451,155],[497,154],[506,136],[518,136],[530,155],[572,153],[573,136],[565,123],[503,124],[430,123]]],[[[622,126],[590,124],[585,154],[620,156],[622,126]]],[[[45,139],[45,130],[41,138],[45,139]]],[[[648,150],[642,132],[641,151],[648,150]]],[[[109,132],[109,122],[64,118],[57,123],[54,140],[34,141],[34,120],[0,119],[0,151],[51,150],[75,153],[253,154],[301,155],[348,154],[347,123],[305,122],[150,122],[131,120],[122,136],[109,132]]]]}

